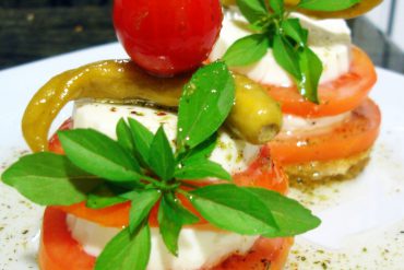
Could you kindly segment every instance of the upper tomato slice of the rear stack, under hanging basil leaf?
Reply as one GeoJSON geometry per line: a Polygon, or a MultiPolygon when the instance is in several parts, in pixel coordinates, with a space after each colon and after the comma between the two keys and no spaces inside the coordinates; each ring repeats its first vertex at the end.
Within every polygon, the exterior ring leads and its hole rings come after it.
{"type": "Polygon", "coordinates": [[[268,85],[269,94],[281,103],[285,114],[321,117],[349,111],[367,98],[377,80],[375,66],[369,57],[357,47],[353,47],[352,54],[349,72],[319,86],[319,105],[306,101],[296,86],[268,85]]]}

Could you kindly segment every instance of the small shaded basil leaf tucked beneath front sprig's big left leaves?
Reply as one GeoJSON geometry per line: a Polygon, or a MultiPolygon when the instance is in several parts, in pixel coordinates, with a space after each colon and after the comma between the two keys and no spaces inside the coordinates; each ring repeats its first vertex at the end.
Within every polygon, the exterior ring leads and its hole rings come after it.
{"type": "Polygon", "coordinates": [[[128,199],[119,197],[119,193],[124,191],[118,189],[119,188],[105,183],[88,193],[85,206],[87,208],[100,209],[128,201],[128,199]]]}

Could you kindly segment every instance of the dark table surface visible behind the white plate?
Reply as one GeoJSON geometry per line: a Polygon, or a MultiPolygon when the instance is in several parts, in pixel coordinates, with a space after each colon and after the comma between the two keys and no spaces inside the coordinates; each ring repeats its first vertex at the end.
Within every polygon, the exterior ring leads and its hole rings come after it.
{"type": "MultiPolygon", "coordinates": [[[[1,0],[0,70],[117,40],[111,0],[1,0]]],[[[382,68],[404,73],[404,54],[367,19],[348,21],[356,45],[382,68]]]]}

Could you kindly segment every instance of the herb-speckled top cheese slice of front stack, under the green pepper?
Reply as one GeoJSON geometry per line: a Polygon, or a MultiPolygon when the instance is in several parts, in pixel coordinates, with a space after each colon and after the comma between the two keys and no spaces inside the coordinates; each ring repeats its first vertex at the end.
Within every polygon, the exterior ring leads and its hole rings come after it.
{"type": "MultiPolygon", "coordinates": [[[[144,125],[153,133],[163,125],[173,150],[175,149],[177,115],[156,108],[78,101],[73,110],[73,128],[92,128],[116,139],[117,122],[121,118],[129,117],[144,125]]],[[[221,129],[216,148],[210,160],[221,164],[230,174],[235,174],[248,168],[259,152],[258,145],[237,140],[221,129]]]]}

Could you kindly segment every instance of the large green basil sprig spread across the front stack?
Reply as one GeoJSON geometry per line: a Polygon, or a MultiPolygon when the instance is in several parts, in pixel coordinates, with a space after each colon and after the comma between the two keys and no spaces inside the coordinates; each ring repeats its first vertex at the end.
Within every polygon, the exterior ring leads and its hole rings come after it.
{"type": "Polygon", "coordinates": [[[234,98],[226,64],[213,62],[185,86],[176,151],[163,127],[153,134],[135,119],[121,119],[117,141],[91,129],[59,131],[66,155],[23,156],[2,179],[41,206],[86,201],[88,208],[99,209],[130,203],[129,226],[106,245],[96,270],[146,269],[152,245],[148,216],[156,206],[162,238],[174,256],[182,226],[200,220],[182,204],[186,200],[213,225],[239,234],[293,236],[314,228],[319,219],[298,202],[274,191],[237,187],[209,160],[234,98]],[[206,177],[229,184],[193,185],[206,177]]]}

